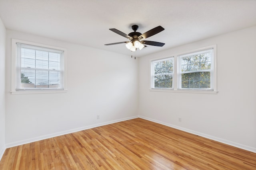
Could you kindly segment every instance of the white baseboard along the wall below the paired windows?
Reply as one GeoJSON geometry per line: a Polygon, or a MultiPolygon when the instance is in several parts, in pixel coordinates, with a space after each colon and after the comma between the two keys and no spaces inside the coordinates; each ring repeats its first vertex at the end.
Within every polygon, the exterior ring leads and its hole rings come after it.
{"type": "Polygon", "coordinates": [[[148,118],[148,117],[144,117],[144,116],[139,116],[139,117],[142,118],[142,119],[146,119],[148,121],[153,121],[155,123],[159,123],[159,124],[162,124],[162,125],[173,127],[175,129],[179,129],[181,131],[192,133],[194,135],[205,137],[207,139],[211,139],[211,140],[218,141],[218,142],[221,142],[221,143],[224,143],[224,144],[227,144],[227,145],[231,145],[233,147],[237,147],[237,148],[240,148],[240,149],[244,149],[244,150],[248,150],[250,152],[256,153],[256,148],[254,148],[254,147],[249,147],[249,146],[246,146],[246,145],[242,145],[240,143],[235,143],[235,142],[232,142],[232,141],[228,141],[226,139],[221,139],[221,138],[214,137],[214,136],[211,136],[211,135],[207,135],[207,134],[204,134],[204,133],[200,133],[200,132],[197,132],[197,131],[192,131],[190,129],[186,129],[186,128],[183,128],[183,127],[179,127],[179,126],[176,126],[176,125],[172,125],[172,124],[169,124],[169,123],[165,123],[165,122],[162,122],[162,121],[151,119],[151,118],[148,118]]]}

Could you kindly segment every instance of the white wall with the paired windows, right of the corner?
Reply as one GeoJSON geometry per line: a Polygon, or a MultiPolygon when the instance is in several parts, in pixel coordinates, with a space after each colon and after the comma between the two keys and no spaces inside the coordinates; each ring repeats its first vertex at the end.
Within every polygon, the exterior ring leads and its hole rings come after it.
{"type": "Polygon", "coordinates": [[[256,26],[141,57],[139,115],[256,152],[255,64],[256,26]],[[214,44],[218,94],[149,91],[150,59],[214,44]]]}

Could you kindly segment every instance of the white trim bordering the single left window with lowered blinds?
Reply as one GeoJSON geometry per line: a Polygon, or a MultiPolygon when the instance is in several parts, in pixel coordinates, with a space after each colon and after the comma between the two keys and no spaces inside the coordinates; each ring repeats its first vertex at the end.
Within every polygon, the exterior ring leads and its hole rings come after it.
{"type": "Polygon", "coordinates": [[[63,82],[63,88],[64,90],[62,90],[62,92],[66,92],[67,91],[67,49],[62,48],[62,47],[55,47],[52,45],[45,45],[45,44],[40,44],[40,43],[34,43],[34,42],[29,42],[29,41],[24,41],[24,40],[19,40],[19,39],[12,39],[12,78],[11,78],[11,94],[36,94],[35,91],[37,91],[37,93],[59,93],[59,90],[46,90],[44,91],[40,91],[40,90],[26,90],[26,93],[21,91],[16,91],[16,76],[17,76],[17,72],[16,72],[16,53],[17,53],[17,45],[16,43],[23,43],[23,44],[28,44],[28,45],[34,45],[34,46],[38,46],[38,47],[45,47],[45,48],[50,48],[50,49],[57,49],[57,50],[61,50],[64,51],[63,53],[63,59],[64,59],[64,82],[63,82]]]}

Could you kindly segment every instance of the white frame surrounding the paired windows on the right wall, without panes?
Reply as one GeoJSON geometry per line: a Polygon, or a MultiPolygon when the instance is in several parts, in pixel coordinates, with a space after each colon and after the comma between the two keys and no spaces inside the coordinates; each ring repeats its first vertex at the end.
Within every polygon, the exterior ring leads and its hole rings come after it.
{"type": "Polygon", "coordinates": [[[205,94],[217,94],[217,45],[210,45],[207,47],[202,47],[199,49],[194,49],[190,51],[185,51],[183,53],[176,53],[174,55],[169,55],[174,57],[174,73],[173,73],[173,79],[172,79],[172,85],[173,89],[168,88],[152,88],[152,62],[156,60],[166,59],[168,57],[159,57],[155,59],[150,60],[150,91],[154,92],[178,92],[178,93],[205,93],[205,94]],[[204,51],[208,49],[213,49],[212,52],[212,64],[211,64],[211,89],[180,89],[179,88],[179,79],[180,79],[180,62],[179,62],[179,56],[184,54],[191,54],[196,53],[199,51],[204,51]]]}

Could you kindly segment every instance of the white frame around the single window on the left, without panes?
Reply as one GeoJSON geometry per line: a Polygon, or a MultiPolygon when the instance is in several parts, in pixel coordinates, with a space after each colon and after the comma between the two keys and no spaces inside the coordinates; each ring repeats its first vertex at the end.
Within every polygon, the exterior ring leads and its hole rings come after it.
{"type": "Polygon", "coordinates": [[[40,93],[63,93],[67,92],[67,66],[66,66],[66,55],[67,55],[67,50],[65,48],[61,47],[54,47],[51,45],[44,45],[40,43],[34,43],[34,42],[29,42],[29,41],[23,41],[19,39],[12,39],[12,82],[11,82],[11,94],[40,94],[40,93]],[[61,80],[61,83],[63,85],[63,89],[26,89],[26,90],[16,90],[16,85],[17,85],[17,76],[19,76],[20,72],[17,70],[17,65],[19,65],[17,62],[17,43],[21,44],[26,44],[26,45],[32,45],[34,47],[42,47],[42,48],[48,48],[48,49],[56,49],[59,51],[64,51],[63,52],[63,76],[61,80]]]}

